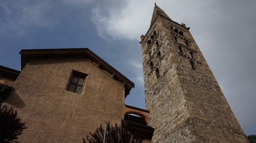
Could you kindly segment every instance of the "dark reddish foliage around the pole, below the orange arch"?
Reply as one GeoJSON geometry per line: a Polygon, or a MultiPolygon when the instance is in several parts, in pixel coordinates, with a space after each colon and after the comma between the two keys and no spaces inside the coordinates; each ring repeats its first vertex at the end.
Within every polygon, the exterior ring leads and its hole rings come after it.
{"type": "MultiPolygon", "coordinates": [[[[104,131],[105,128],[100,125],[95,133],[90,132],[90,138],[87,135],[87,143],[103,143],[104,131]]],[[[118,126],[116,123],[115,126],[110,126],[109,122],[107,123],[105,143],[142,143],[144,139],[144,131],[132,135],[126,125],[118,126]]],[[[83,143],[86,143],[85,138],[83,138],[83,143]]]]}

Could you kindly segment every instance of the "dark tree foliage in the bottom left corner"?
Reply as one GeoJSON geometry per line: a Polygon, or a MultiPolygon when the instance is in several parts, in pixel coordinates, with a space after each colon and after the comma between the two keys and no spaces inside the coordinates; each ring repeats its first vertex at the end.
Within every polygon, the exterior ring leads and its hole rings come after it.
{"type": "Polygon", "coordinates": [[[26,128],[13,107],[0,104],[0,143],[18,143],[18,136],[26,128]]]}

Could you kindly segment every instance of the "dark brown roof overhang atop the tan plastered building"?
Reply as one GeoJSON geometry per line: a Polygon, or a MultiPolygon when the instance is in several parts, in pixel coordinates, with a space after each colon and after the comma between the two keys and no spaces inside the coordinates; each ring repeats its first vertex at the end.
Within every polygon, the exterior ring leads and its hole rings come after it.
{"type": "Polygon", "coordinates": [[[98,63],[98,67],[112,74],[112,77],[121,82],[125,87],[125,97],[134,88],[134,83],[122,75],[107,62],[93,53],[88,48],[61,48],[61,49],[28,49],[21,50],[21,70],[26,66],[29,59],[63,59],[63,58],[87,58],[98,63]]]}

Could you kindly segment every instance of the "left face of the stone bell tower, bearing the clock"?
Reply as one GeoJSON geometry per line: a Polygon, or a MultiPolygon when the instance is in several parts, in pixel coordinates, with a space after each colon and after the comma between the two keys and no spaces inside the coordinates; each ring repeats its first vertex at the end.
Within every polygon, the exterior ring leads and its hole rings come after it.
{"type": "Polygon", "coordinates": [[[167,31],[158,17],[141,43],[146,107],[150,111],[148,125],[155,128],[151,141],[190,142],[194,135],[189,126],[190,116],[176,72],[175,58],[171,55],[167,31]],[[154,38],[147,44],[151,36],[154,38]],[[159,46],[155,44],[157,41],[159,46]],[[159,52],[160,55],[157,54],[159,52]],[[158,79],[157,68],[160,73],[158,79]]]}

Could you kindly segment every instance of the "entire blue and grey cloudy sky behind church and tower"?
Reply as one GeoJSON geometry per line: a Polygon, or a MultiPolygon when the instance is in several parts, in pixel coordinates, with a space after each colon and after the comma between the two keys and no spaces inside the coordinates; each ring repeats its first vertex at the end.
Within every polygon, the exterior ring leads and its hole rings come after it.
{"type": "MultiPolygon", "coordinates": [[[[87,47],[135,83],[126,104],[146,108],[141,34],[155,0],[2,0],[0,65],[21,70],[21,49],[87,47]]],[[[190,27],[246,135],[256,134],[256,1],[161,0],[190,27]]]]}

